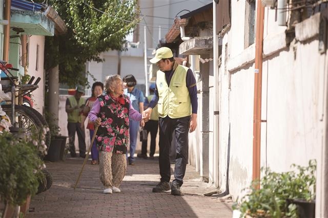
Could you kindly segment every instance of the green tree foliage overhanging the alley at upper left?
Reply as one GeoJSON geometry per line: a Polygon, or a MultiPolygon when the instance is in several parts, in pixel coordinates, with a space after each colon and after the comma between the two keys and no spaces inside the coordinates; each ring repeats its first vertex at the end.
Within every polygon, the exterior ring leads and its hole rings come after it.
{"type": "Polygon", "coordinates": [[[122,50],[126,35],[139,21],[136,0],[51,0],[48,4],[68,30],[46,38],[45,69],[59,64],[59,82],[69,86],[87,82],[86,61],[103,61],[101,52],[122,50]]]}

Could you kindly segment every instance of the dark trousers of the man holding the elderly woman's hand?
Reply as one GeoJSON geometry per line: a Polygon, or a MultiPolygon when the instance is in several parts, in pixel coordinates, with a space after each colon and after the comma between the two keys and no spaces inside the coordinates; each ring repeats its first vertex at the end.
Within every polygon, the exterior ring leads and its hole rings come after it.
{"type": "Polygon", "coordinates": [[[190,116],[171,119],[159,118],[159,174],[161,181],[170,182],[170,148],[175,130],[176,157],[173,183],[183,184],[188,157],[188,132],[190,116]]]}

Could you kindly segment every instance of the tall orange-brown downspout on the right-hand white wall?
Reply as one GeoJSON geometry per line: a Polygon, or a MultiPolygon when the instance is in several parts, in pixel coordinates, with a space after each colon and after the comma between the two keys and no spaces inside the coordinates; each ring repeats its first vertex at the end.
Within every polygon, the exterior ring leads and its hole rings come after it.
{"type": "MultiPolygon", "coordinates": [[[[262,102],[262,53],[263,53],[264,7],[257,1],[255,76],[254,76],[254,120],[253,120],[253,180],[260,179],[261,161],[261,102],[262,102]]],[[[259,188],[260,184],[256,185],[259,188]]]]}

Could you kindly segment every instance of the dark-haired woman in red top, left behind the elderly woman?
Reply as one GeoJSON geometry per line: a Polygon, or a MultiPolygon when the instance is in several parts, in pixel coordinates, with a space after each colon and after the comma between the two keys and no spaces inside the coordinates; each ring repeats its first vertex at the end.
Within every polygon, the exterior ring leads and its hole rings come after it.
{"type": "MultiPolygon", "coordinates": [[[[97,97],[99,95],[103,94],[104,84],[102,82],[94,82],[92,84],[91,92],[92,92],[92,95],[90,98],[87,99],[86,106],[83,110],[83,113],[85,116],[88,116],[88,113],[90,112],[91,107],[92,107],[93,103],[96,101],[97,97]]],[[[89,132],[90,132],[90,143],[91,143],[91,140],[92,140],[92,137],[94,134],[94,124],[90,120],[88,121],[87,129],[89,129],[89,132]]],[[[94,140],[93,144],[90,146],[92,146],[91,147],[91,159],[92,159],[91,164],[92,165],[99,164],[99,162],[98,162],[99,154],[98,154],[98,148],[96,146],[96,141],[94,140]]]]}

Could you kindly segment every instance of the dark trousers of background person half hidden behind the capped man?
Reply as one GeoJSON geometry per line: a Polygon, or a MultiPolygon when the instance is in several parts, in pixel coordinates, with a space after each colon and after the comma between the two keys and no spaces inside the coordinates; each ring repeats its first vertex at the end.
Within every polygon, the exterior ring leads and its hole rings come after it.
{"type": "MultiPolygon", "coordinates": [[[[158,132],[158,120],[149,120],[148,122],[146,122],[144,129],[147,130],[147,136],[150,132],[149,156],[154,156],[155,149],[156,149],[156,136],[157,136],[157,132],[158,132]]],[[[148,144],[147,140],[142,141],[141,154],[144,156],[147,155],[147,144],[148,144]]]]}

